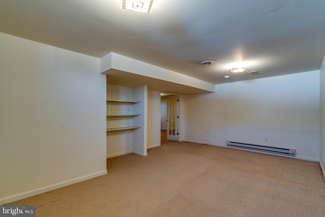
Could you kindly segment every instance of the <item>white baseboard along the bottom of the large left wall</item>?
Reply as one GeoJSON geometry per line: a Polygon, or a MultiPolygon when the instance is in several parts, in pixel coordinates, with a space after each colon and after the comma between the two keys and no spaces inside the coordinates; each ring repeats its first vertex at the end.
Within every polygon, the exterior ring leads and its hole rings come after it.
{"type": "Polygon", "coordinates": [[[105,174],[107,174],[107,170],[92,173],[92,174],[82,176],[82,177],[79,177],[79,178],[70,179],[68,181],[62,181],[62,182],[59,182],[59,183],[56,183],[56,184],[49,185],[49,186],[44,187],[44,188],[35,189],[35,190],[28,191],[28,192],[23,192],[23,193],[13,195],[13,196],[9,196],[9,197],[5,197],[5,198],[0,198],[0,205],[6,204],[6,203],[11,203],[11,202],[14,202],[14,201],[17,201],[17,200],[21,200],[21,199],[24,199],[24,198],[27,198],[27,197],[35,196],[35,195],[42,194],[42,193],[45,193],[45,192],[49,192],[49,191],[52,191],[54,189],[59,189],[59,188],[62,188],[62,187],[66,187],[67,185],[75,184],[77,182],[85,181],[87,179],[91,179],[91,178],[98,177],[98,176],[105,175],[105,174]]]}

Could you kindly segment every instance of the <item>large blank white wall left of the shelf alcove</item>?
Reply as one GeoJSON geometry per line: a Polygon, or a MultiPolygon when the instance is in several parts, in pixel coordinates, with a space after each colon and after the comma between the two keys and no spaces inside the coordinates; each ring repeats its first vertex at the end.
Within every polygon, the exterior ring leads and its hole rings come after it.
{"type": "Polygon", "coordinates": [[[0,204],[106,174],[100,59],[0,33],[0,204]]]}

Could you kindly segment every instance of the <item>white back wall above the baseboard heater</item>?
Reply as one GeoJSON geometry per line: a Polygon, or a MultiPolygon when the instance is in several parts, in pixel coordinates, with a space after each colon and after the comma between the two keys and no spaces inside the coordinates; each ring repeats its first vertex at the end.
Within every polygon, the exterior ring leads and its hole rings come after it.
{"type": "Polygon", "coordinates": [[[319,159],[319,71],[218,84],[182,96],[182,115],[185,141],[295,148],[297,158],[319,159]]]}

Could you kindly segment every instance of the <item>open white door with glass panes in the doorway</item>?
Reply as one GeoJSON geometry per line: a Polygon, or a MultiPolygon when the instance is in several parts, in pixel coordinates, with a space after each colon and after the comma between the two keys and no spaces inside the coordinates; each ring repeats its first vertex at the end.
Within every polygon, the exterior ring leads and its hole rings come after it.
{"type": "Polygon", "coordinates": [[[167,139],[177,141],[177,96],[167,98],[167,139]]]}

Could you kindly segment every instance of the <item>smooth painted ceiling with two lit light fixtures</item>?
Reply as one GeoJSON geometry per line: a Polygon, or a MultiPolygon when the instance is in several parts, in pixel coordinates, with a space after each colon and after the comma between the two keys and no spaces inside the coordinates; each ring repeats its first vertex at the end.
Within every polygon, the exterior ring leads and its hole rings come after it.
{"type": "Polygon", "coordinates": [[[150,14],[120,4],[1,0],[0,32],[99,58],[114,52],[213,84],[319,70],[325,56],[323,0],[154,0],[150,14]],[[230,72],[235,61],[246,62],[244,73],[230,72]]]}

